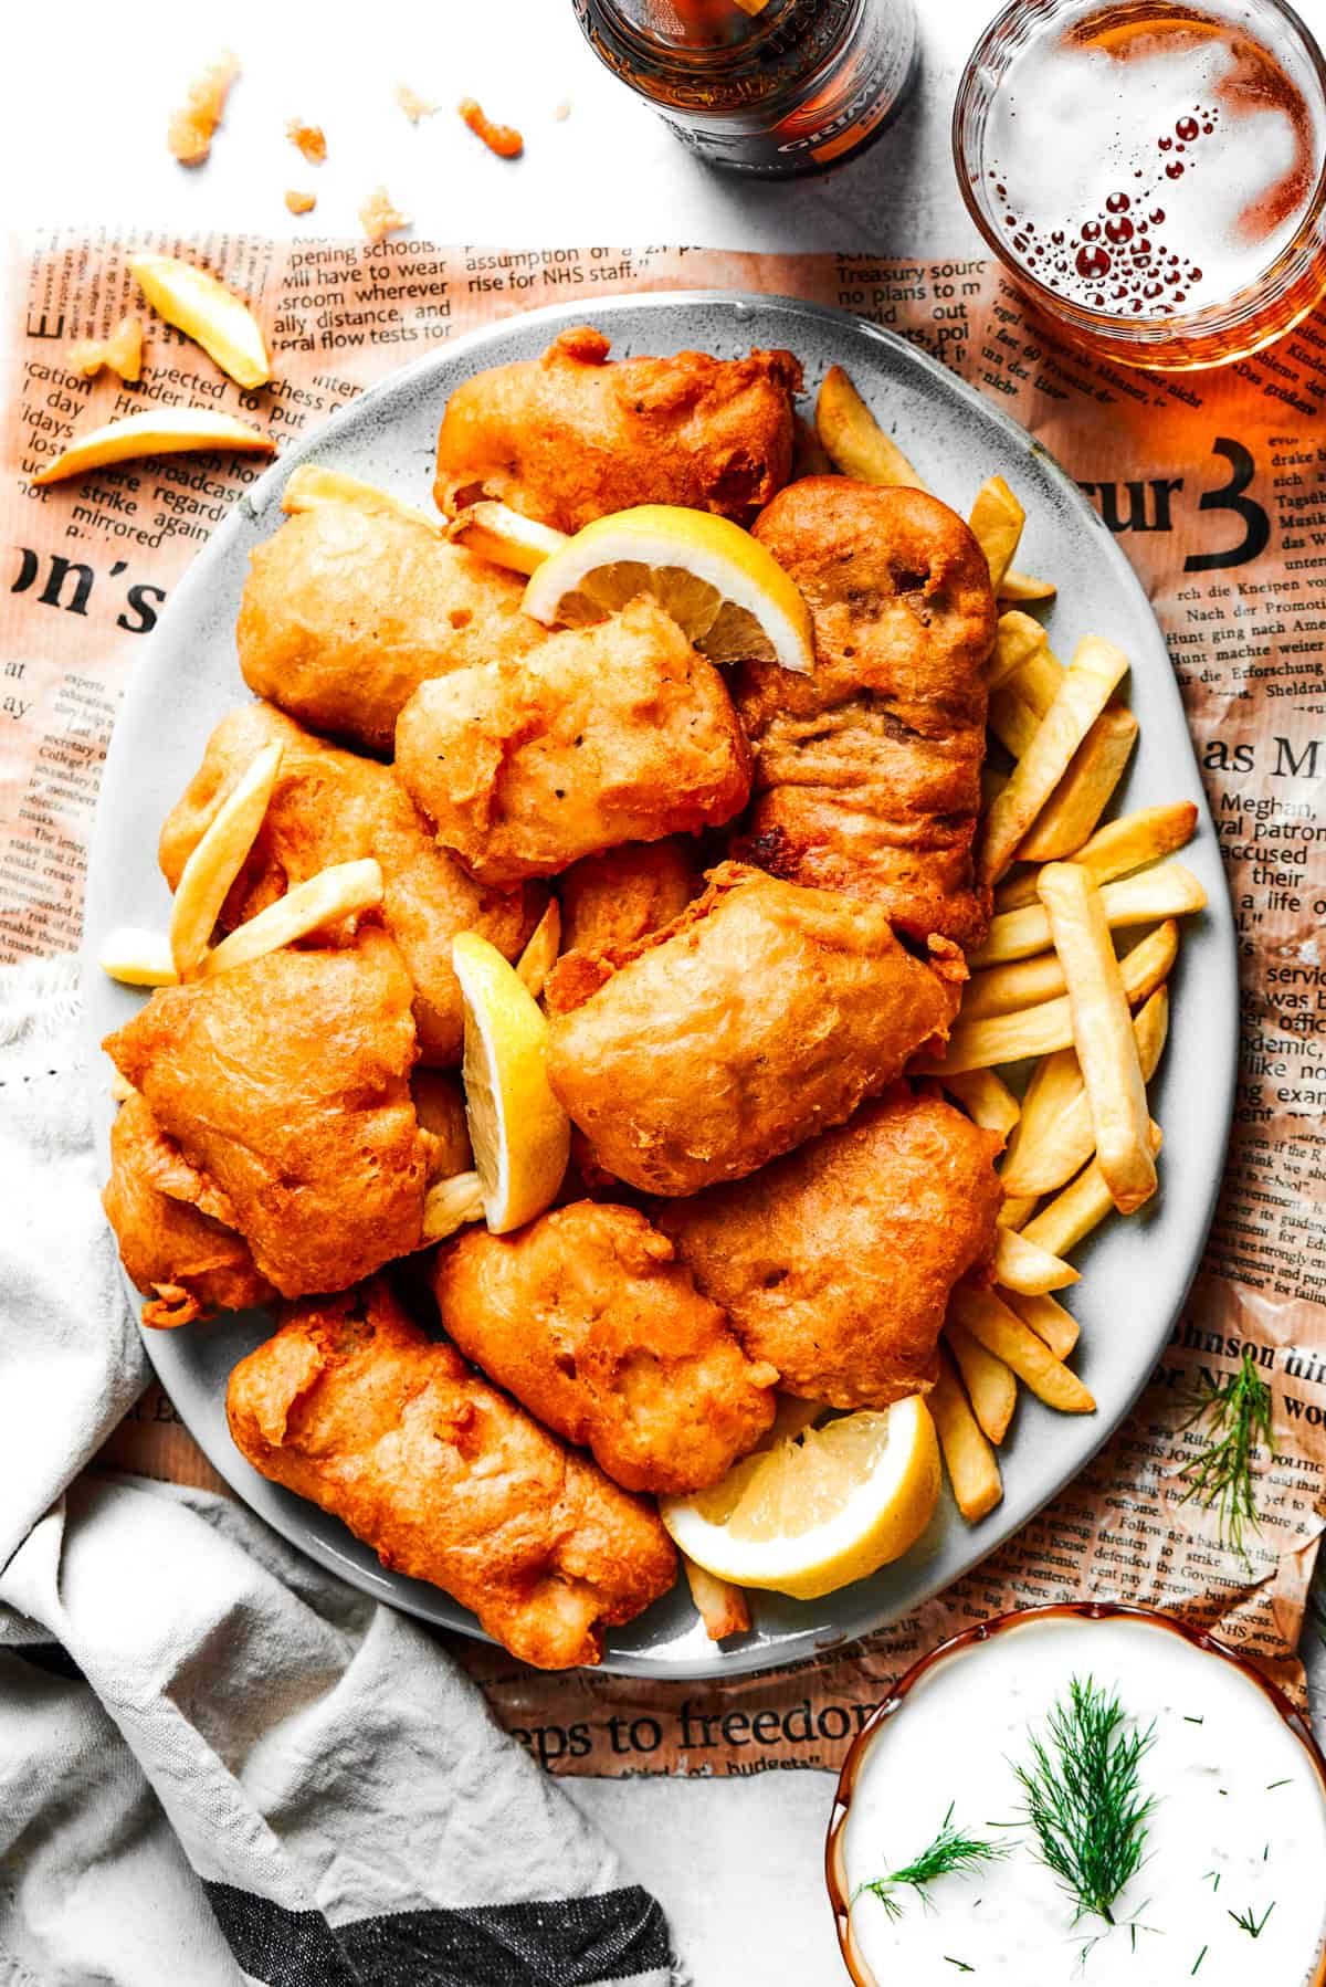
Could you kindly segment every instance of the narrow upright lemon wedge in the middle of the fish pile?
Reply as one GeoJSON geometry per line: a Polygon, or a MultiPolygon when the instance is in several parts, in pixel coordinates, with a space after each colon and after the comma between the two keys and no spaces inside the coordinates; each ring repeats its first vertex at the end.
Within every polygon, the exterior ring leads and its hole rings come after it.
{"type": "Polygon", "coordinates": [[[497,946],[477,932],[451,940],[465,999],[465,1117],[495,1236],[553,1204],[571,1154],[571,1119],[549,1085],[549,1023],[497,946]]]}

